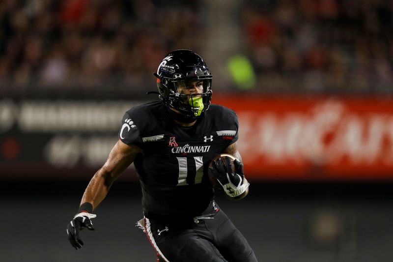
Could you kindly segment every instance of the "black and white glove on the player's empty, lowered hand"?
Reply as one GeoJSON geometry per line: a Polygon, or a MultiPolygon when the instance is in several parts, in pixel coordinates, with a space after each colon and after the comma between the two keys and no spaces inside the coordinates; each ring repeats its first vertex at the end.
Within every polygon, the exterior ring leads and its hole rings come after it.
{"type": "Polygon", "coordinates": [[[87,212],[81,212],[74,216],[74,219],[70,221],[67,225],[68,240],[70,240],[71,245],[78,250],[82,248],[84,242],[79,236],[79,232],[84,228],[88,230],[94,230],[93,223],[91,223],[92,218],[97,215],[90,214],[87,212]]]}

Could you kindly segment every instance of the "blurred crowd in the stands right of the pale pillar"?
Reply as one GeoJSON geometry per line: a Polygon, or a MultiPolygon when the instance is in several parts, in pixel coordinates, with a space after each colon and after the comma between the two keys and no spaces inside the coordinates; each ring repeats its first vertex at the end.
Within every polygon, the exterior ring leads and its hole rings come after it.
{"type": "Polygon", "coordinates": [[[241,25],[258,86],[393,92],[392,0],[248,0],[241,25]]]}

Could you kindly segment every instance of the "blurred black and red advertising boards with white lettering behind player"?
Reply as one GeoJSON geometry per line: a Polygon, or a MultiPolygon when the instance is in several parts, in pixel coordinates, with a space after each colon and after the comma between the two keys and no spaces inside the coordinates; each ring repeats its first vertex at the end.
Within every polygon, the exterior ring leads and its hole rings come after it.
{"type": "MultiPolygon", "coordinates": [[[[393,180],[393,98],[214,94],[212,102],[239,117],[250,179],[393,180]]],[[[140,103],[0,100],[0,179],[90,177],[124,112],[140,103]]]]}

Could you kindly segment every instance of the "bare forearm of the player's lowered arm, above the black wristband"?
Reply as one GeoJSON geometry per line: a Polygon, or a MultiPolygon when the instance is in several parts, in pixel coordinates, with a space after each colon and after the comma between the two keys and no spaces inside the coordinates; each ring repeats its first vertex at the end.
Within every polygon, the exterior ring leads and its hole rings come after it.
{"type": "Polygon", "coordinates": [[[104,169],[98,170],[87,185],[81,204],[87,202],[93,205],[93,209],[96,208],[107,196],[111,185],[110,174],[104,169]]]}

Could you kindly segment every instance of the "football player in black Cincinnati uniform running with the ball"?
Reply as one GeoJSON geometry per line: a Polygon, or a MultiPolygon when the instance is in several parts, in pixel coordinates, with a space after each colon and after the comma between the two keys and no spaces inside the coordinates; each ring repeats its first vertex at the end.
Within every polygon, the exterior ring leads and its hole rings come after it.
{"type": "Polygon", "coordinates": [[[230,199],[248,194],[235,112],[210,104],[212,75],[193,51],[170,52],[154,75],[161,101],[136,106],[123,116],[119,140],[67,226],[69,241],[82,247],[80,230],[94,229],[94,208],[134,163],[144,216],[138,224],[162,261],[256,262],[247,240],[215,202],[209,179],[230,199]],[[221,153],[237,159],[212,162],[221,153]]]}

